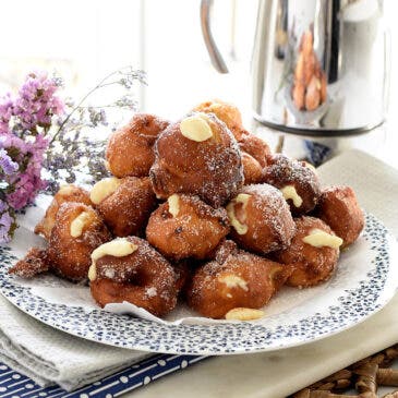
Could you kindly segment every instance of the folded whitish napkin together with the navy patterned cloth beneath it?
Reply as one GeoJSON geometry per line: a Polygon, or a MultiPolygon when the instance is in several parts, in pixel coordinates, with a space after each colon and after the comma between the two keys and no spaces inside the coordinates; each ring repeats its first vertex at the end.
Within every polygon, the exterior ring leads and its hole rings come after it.
{"type": "Polygon", "coordinates": [[[154,355],[72,337],[39,323],[0,297],[0,397],[15,396],[11,393],[16,389],[21,394],[21,388],[52,395],[86,385],[80,394],[100,389],[105,397],[107,390],[124,393],[203,358],[154,355]],[[43,388],[53,384],[60,387],[43,388]]]}

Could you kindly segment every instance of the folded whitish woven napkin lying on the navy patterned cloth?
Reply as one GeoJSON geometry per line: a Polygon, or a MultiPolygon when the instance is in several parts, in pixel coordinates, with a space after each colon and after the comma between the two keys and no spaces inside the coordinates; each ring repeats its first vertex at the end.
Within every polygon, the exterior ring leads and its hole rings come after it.
{"type": "Polygon", "coordinates": [[[41,386],[57,383],[72,390],[148,355],[148,352],[105,346],[56,330],[0,296],[0,362],[41,386]]]}

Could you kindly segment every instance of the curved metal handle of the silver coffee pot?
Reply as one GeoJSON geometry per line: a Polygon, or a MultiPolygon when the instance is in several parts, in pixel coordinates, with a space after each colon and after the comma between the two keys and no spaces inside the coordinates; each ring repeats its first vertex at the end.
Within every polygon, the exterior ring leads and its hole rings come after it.
{"type": "Polygon", "coordinates": [[[228,73],[228,68],[224,58],[218,50],[218,47],[213,38],[212,29],[210,29],[210,9],[213,5],[213,0],[202,0],[201,1],[201,26],[202,34],[205,40],[205,45],[210,56],[210,61],[213,67],[219,73],[228,73]]]}

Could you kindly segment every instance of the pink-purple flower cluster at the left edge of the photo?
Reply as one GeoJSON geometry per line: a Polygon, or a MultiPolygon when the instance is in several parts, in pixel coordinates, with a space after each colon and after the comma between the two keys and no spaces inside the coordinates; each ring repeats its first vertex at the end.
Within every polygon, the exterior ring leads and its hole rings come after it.
{"type": "Polygon", "coordinates": [[[15,212],[46,186],[41,166],[55,117],[63,112],[60,84],[44,72],[31,73],[12,96],[0,98],[0,243],[15,230],[15,212]]]}

